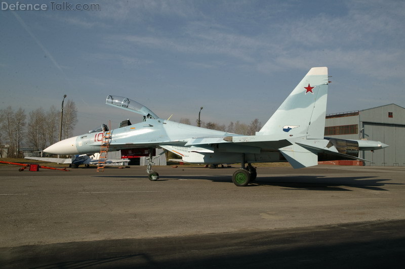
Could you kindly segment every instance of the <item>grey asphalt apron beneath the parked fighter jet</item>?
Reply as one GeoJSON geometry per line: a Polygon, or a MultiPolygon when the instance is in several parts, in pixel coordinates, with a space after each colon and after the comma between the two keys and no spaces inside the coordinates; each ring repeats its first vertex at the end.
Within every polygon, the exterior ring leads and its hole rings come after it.
{"type": "MultiPolygon", "coordinates": [[[[405,167],[0,166],[0,267],[397,267],[405,167]]],[[[400,266],[401,267],[401,266],[400,266]]]]}

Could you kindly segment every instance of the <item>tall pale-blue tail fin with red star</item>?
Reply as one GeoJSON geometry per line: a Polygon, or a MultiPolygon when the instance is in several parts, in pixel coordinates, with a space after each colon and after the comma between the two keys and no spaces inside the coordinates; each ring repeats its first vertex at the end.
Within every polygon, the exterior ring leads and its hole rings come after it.
{"type": "Polygon", "coordinates": [[[328,68],[311,68],[257,135],[323,139],[327,97],[328,68]]]}

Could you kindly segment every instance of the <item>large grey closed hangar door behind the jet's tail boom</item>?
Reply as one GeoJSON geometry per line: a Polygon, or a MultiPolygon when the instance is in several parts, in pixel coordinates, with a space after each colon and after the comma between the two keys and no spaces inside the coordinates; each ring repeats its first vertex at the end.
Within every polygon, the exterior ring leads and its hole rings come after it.
{"type": "Polygon", "coordinates": [[[371,166],[405,166],[405,126],[363,122],[363,138],[380,141],[388,148],[374,152],[364,151],[363,157],[371,166]]]}

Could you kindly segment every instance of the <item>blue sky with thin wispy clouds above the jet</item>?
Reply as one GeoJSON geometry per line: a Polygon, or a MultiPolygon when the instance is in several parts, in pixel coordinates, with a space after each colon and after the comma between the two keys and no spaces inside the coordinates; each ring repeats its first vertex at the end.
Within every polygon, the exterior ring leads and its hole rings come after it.
{"type": "Polygon", "coordinates": [[[74,135],[142,120],[108,95],[175,121],[202,106],[203,122],[264,125],[317,66],[332,76],[327,113],[405,107],[405,1],[1,2],[0,109],[60,109],[66,94],[74,135]]]}

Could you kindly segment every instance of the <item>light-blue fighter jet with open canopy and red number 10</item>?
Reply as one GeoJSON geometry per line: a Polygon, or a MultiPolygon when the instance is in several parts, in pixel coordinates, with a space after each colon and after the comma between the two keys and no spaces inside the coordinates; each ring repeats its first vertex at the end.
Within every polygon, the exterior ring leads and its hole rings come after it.
{"type": "MultiPolygon", "coordinates": [[[[148,178],[158,180],[151,169],[152,149],[163,148],[188,163],[241,163],[232,175],[236,186],[254,181],[252,163],[288,161],[294,168],[317,165],[318,160],[355,159],[361,150],[387,145],[376,141],[324,138],[328,96],[328,68],[313,67],[298,83],[284,103],[254,136],[237,135],[159,118],[134,100],[108,96],[106,104],[136,112],[144,121],[110,130],[110,150],[147,148],[148,178]],[[247,164],[247,165],[246,165],[247,164]]],[[[60,141],[44,152],[53,154],[91,153],[100,148],[103,133],[85,134],[60,141]]]]}

